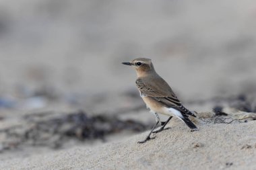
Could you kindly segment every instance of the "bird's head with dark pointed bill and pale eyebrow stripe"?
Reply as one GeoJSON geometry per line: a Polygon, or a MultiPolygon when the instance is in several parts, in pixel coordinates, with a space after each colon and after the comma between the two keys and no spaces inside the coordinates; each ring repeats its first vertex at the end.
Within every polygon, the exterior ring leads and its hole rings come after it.
{"type": "Polygon", "coordinates": [[[132,66],[138,77],[143,77],[152,71],[155,72],[150,58],[135,58],[131,62],[122,62],[122,64],[132,66]]]}

